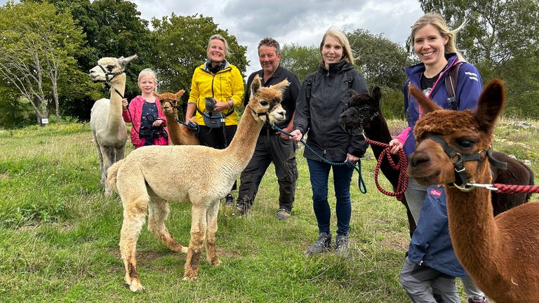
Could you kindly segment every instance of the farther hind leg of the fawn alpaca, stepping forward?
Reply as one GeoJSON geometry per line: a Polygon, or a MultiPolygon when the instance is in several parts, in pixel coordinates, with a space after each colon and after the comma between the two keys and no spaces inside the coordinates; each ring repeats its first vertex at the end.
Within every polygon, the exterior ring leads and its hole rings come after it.
{"type": "Polygon", "coordinates": [[[148,230],[171,250],[187,253],[187,248],[176,242],[165,226],[166,218],[171,213],[168,202],[161,198],[152,198],[148,206],[148,230]]]}

